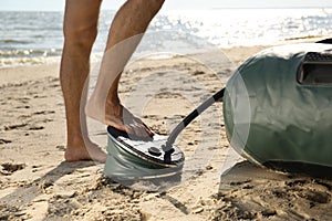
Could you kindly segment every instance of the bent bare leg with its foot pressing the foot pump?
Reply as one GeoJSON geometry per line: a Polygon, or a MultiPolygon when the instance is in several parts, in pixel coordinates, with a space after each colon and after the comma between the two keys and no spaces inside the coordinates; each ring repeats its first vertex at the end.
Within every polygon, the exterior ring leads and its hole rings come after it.
{"type": "Polygon", "coordinates": [[[97,84],[86,107],[87,116],[141,137],[153,133],[122,106],[117,85],[124,66],[163,3],[164,0],[128,0],[120,9],[110,29],[97,84]]]}

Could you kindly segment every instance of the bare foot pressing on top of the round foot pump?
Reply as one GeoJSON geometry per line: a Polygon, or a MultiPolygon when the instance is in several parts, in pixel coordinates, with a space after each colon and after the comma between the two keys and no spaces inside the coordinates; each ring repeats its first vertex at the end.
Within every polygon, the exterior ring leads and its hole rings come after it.
{"type": "Polygon", "coordinates": [[[104,107],[105,110],[101,112],[101,109],[103,107],[91,98],[86,105],[85,114],[105,125],[126,131],[128,135],[143,138],[154,136],[154,133],[138,117],[125,108],[118,99],[107,101],[104,107]]]}

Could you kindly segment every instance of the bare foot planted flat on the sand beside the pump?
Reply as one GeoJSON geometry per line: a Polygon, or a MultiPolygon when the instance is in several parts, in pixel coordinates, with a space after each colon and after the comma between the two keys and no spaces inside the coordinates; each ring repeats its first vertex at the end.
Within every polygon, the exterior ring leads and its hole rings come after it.
{"type": "Polygon", "coordinates": [[[68,145],[64,159],[66,161],[94,160],[106,161],[106,154],[92,141],[75,140],[68,145]]]}

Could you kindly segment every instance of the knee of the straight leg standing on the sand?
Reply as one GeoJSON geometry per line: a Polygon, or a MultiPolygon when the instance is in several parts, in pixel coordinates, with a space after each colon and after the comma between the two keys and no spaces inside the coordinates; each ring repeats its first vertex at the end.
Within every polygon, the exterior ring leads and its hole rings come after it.
{"type": "Polygon", "coordinates": [[[97,24],[86,27],[64,25],[64,42],[70,49],[90,52],[97,35],[97,24]]]}

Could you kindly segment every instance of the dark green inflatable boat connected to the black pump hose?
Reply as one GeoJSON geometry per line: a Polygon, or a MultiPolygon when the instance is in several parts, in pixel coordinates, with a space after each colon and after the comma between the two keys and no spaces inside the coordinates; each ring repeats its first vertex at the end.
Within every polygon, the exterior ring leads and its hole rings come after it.
{"type": "Polygon", "coordinates": [[[226,86],[231,146],[250,161],[311,173],[332,171],[332,44],[264,50],[226,86]]]}

